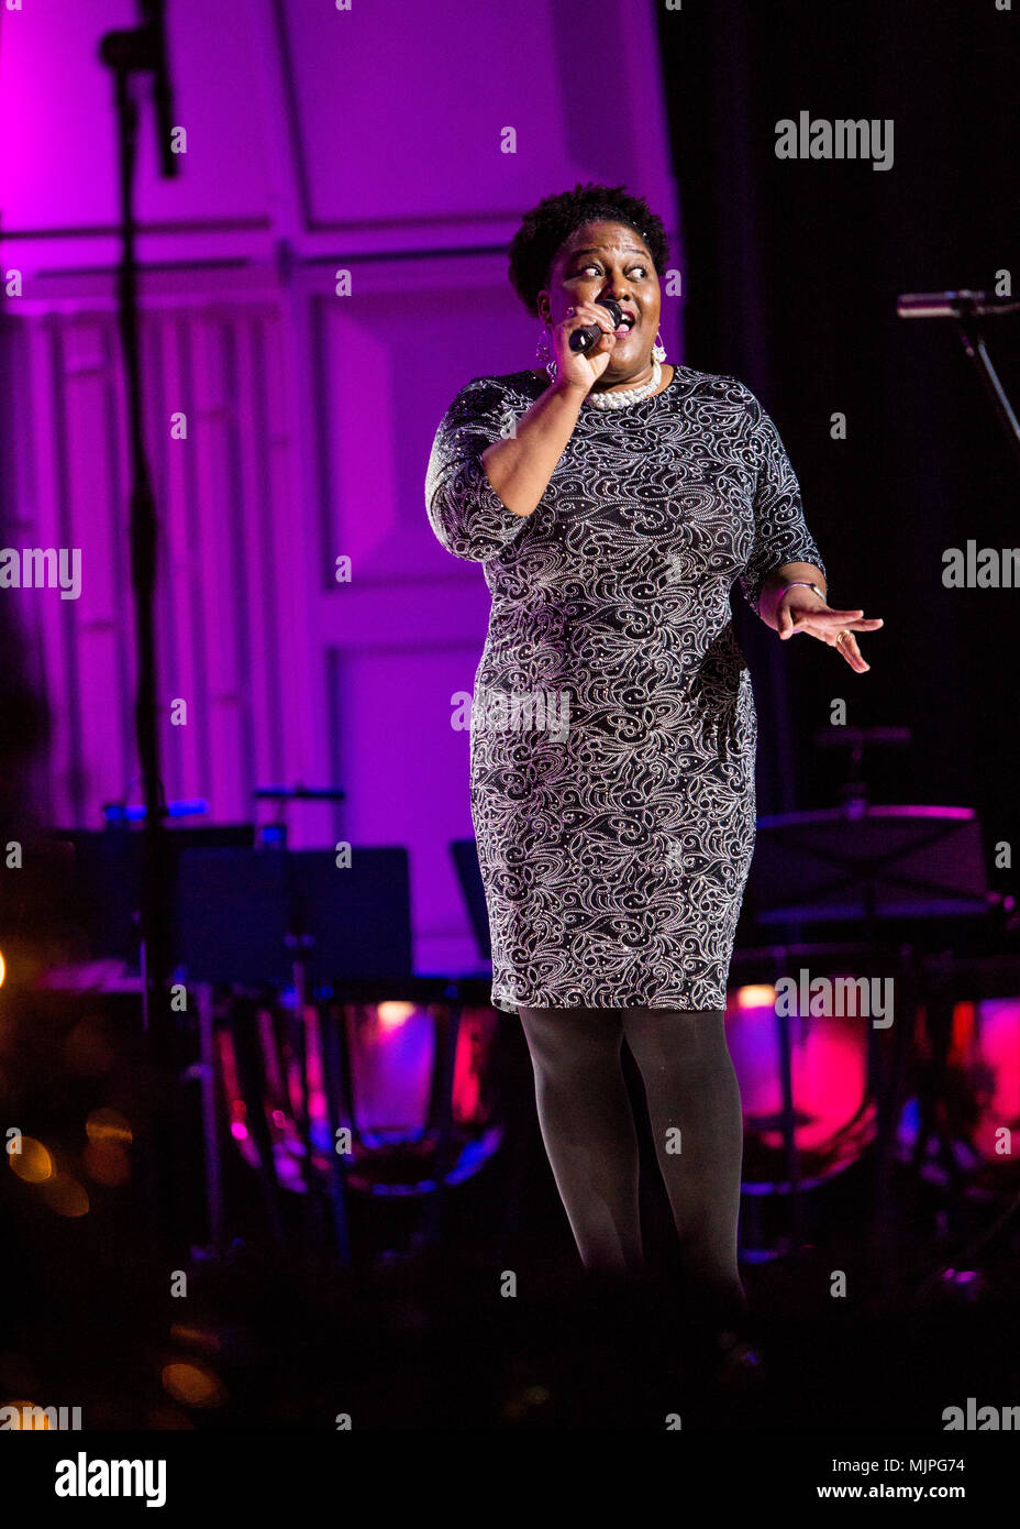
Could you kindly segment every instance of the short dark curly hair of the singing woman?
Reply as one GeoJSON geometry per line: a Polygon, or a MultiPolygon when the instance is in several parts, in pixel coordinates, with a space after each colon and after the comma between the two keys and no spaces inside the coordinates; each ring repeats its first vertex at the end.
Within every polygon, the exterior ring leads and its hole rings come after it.
{"type": "Polygon", "coordinates": [[[528,313],[537,318],[537,295],[548,281],[553,261],[577,228],[585,223],[625,223],[641,235],[655,269],[663,274],[669,263],[669,242],[663,220],[640,196],[626,187],[605,187],[594,180],[573,191],[547,196],[524,214],[521,228],[510,242],[510,281],[528,313]]]}

